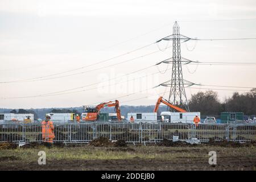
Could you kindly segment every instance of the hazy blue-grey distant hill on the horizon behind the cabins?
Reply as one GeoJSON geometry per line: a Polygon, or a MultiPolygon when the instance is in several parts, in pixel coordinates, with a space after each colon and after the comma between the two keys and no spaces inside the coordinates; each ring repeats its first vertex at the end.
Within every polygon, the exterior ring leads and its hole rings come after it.
{"type": "MultiPolygon", "coordinates": [[[[123,105],[120,107],[121,114],[127,118],[127,113],[152,113],[154,110],[154,105],[149,106],[128,106],[123,105]]],[[[43,119],[46,116],[46,113],[50,113],[53,109],[69,109],[69,110],[77,110],[79,113],[82,113],[82,107],[54,107],[54,108],[42,108],[42,109],[27,109],[34,111],[38,118],[43,119]]],[[[0,113],[10,113],[13,109],[0,109],[0,113]]],[[[17,109],[18,110],[18,109],[17,109]]],[[[158,112],[166,111],[167,106],[159,106],[158,112]]],[[[114,107],[105,107],[101,109],[101,113],[114,113],[114,107]]]]}

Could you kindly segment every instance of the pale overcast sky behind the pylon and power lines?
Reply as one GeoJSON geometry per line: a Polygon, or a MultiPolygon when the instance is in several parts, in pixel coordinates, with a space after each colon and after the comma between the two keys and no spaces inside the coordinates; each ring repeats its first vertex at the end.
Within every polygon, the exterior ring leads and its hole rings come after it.
{"type": "MultiPolygon", "coordinates": [[[[0,82],[27,80],[84,67],[51,76],[57,77],[54,79],[1,83],[0,98],[29,97],[0,99],[0,107],[82,106],[134,92],[136,94],[118,98],[120,104],[154,105],[163,92],[168,98],[168,88],[138,92],[170,80],[172,65],[161,64],[126,74],[171,57],[172,48],[166,48],[171,42],[162,41],[101,64],[91,64],[171,35],[175,20],[179,23],[180,33],[191,38],[256,38],[256,2],[253,0],[0,0],[0,82]],[[121,63],[126,60],[130,61],[121,63]],[[67,76],[73,73],[75,75],[67,76]],[[111,81],[106,81],[108,79],[111,81]],[[68,91],[73,93],[59,92],[79,86],[86,87],[68,91]],[[58,94],[30,97],[53,92],[58,94]],[[146,96],[148,98],[137,100],[146,96]]],[[[181,56],[194,61],[255,63],[255,47],[256,40],[189,41],[181,44],[181,56]]],[[[255,68],[255,65],[188,64],[183,67],[183,77],[196,84],[253,87],[256,86],[255,68]]],[[[215,87],[186,88],[187,97],[204,91],[204,88],[215,87]]],[[[220,100],[234,92],[216,91],[220,100]]]]}

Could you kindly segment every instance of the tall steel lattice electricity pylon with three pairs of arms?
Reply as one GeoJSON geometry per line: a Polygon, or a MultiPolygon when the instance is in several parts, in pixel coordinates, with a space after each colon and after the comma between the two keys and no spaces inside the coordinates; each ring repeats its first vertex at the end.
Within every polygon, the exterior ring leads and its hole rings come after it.
{"type": "MultiPolygon", "coordinates": [[[[191,86],[193,83],[183,79],[181,63],[188,64],[192,61],[181,57],[180,41],[187,42],[191,38],[180,34],[180,27],[177,22],[174,23],[173,31],[172,35],[161,39],[172,40],[172,57],[161,62],[172,63],[172,78],[160,85],[171,87],[168,101],[172,105],[183,107],[185,110],[189,111],[184,85],[191,86]]],[[[174,111],[170,107],[168,107],[167,110],[174,111]]]]}

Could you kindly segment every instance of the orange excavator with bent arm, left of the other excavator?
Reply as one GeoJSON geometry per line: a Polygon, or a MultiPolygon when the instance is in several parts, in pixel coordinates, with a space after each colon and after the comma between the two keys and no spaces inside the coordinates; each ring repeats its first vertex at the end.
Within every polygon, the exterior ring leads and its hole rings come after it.
{"type": "Polygon", "coordinates": [[[104,107],[115,107],[115,112],[117,113],[117,119],[120,122],[121,121],[121,111],[119,107],[119,101],[109,101],[104,102],[96,107],[86,107],[86,113],[82,113],[82,121],[96,121],[98,118],[98,114],[100,114],[100,110],[104,107]]]}

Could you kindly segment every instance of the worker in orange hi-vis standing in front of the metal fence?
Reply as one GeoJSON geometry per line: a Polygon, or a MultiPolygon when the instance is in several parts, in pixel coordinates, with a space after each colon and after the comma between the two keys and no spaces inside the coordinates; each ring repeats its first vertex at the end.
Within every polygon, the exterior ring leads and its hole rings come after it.
{"type": "Polygon", "coordinates": [[[51,117],[46,115],[46,119],[42,122],[42,137],[43,141],[47,143],[53,143],[55,138],[53,122],[50,119],[51,117]]]}

